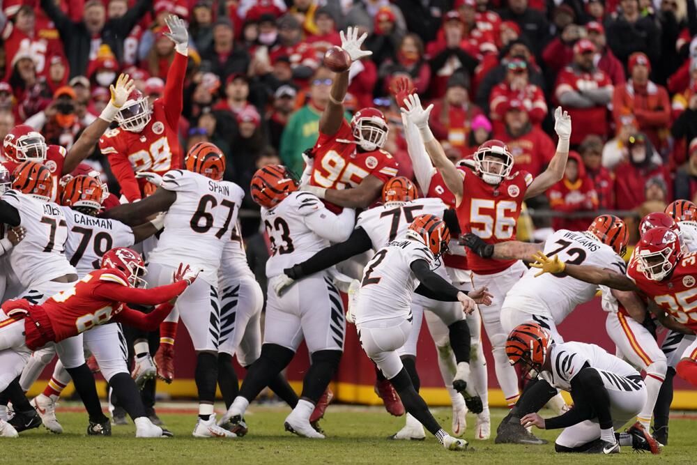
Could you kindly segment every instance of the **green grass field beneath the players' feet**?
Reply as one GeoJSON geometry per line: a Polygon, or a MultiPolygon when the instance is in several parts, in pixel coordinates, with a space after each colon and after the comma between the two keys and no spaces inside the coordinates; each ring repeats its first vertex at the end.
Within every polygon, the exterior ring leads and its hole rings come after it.
{"type": "MultiPolygon", "coordinates": [[[[61,406],[65,406],[62,404],[61,406]]],[[[542,446],[496,445],[489,441],[472,441],[474,418],[468,416],[470,428],[465,438],[474,448],[471,452],[450,452],[432,436],[426,441],[388,441],[389,434],[403,425],[403,418],[394,418],[378,407],[330,406],[322,420],[328,439],[303,439],[284,432],[283,420],[288,413],[281,407],[253,405],[247,416],[250,433],[240,439],[194,439],[194,413],[160,413],[172,439],[135,439],[132,425],[114,427],[113,436],[85,436],[86,415],[61,411],[58,417],[66,433],[54,435],[46,429],[33,429],[19,439],[4,439],[2,464],[544,464],[560,459],[573,463],[641,464],[659,460],[661,463],[692,463],[695,459],[694,428],[697,420],[682,413],[671,419],[671,444],[659,457],[636,454],[622,448],[620,455],[597,457],[557,455],[553,448],[555,432],[540,432],[550,444],[542,446]]],[[[450,409],[435,409],[436,418],[450,429],[450,409]]],[[[544,412],[547,413],[547,412],[544,412]]],[[[492,412],[492,426],[503,418],[503,410],[492,412]]],[[[543,415],[544,416],[544,415],[543,415]]],[[[537,430],[539,432],[539,430],[537,430]]]]}

